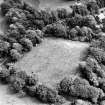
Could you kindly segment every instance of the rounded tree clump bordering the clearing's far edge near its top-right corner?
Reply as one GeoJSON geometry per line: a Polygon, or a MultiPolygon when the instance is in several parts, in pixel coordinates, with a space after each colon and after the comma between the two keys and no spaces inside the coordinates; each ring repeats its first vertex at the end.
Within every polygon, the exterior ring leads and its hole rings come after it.
{"type": "Polygon", "coordinates": [[[67,38],[81,42],[92,42],[92,40],[98,39],[99,36],[96,36],[92,29],[87,26],[75,26],[69,30],[67,38]]]}

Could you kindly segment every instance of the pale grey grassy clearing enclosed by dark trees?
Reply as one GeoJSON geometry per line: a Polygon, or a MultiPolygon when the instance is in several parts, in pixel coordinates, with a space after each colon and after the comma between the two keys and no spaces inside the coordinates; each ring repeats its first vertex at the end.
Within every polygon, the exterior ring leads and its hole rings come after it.
{"type": "Polygon", "coordinates": [[[28,73],[37,73],[40,82],[55,85],[63,77],[76,74],[76,67],[87,47],[86,43],[44,39],[42,44],[26,54],[16,66],[28,73]]]}

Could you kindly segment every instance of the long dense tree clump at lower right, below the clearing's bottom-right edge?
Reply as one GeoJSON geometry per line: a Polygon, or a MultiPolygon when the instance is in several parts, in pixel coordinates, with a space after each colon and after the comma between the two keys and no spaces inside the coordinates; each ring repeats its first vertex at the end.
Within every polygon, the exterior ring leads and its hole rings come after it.
{"type": "Polygon", "coordinates": [[[104,97],[104,92],[95,88],[89,84],[79,84],[78,82],[74,84],[75,79],[64,78],[60,82],[60,92],[64,92],[67,95],[72,95],[75,97],[90,99],[92,102],[97,103],[98,99],[104,97]]]}

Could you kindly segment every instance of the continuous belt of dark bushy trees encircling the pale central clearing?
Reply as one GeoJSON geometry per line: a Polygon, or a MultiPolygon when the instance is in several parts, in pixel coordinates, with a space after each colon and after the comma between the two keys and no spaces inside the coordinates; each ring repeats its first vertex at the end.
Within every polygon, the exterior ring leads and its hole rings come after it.
{"type": "MultiPolygon", "coordinates": [[[[1,11],[8,29],[0,35],[0,57],[5,61],[0,81],[8,84],[14,93],[28,94],[45,103],[62,104],[61,95],[68,95],[100,104],[105,98],[105,36],[101,34],[104,28],[95,14],[104,7],[104,0],[96,1],[72,5],[73,11],[69,13],[64,8],[36,10],[21,0],[4,0],[1,11]],[[36,74],[27,74],[11,65],[40,44],[44,37],[91,43],[86,59],[79,65],[81,77],[66,77],[54,90],[39,83],[36,74]]],[[[78,105],[78,101],[72,105],[78,105]]]]}

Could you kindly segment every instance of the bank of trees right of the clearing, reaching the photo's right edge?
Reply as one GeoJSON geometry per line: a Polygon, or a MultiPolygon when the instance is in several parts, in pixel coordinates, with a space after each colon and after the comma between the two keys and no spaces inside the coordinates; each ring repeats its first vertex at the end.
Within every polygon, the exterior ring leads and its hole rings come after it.
{"type": "Polygon", "coordinates": [[[80,70],[91,85],[105,91],[104,37],[91,43],[88,56],[85,62],[80,64],[80,70]]]}

